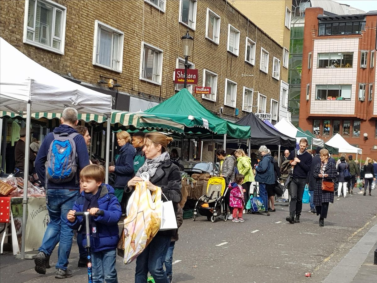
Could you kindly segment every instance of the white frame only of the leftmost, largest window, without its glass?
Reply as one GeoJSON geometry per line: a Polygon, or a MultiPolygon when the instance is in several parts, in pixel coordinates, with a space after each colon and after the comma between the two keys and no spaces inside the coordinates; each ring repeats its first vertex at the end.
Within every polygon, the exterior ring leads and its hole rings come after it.
{"type": "MultiPolygon", "coordinates": [[[[66,18],[67,18],[67,8],[63,5],[60,5],[54,1],[51,0],[38,0],[40,2],[44,2],[49,6],[53,6],[53,15],[52,15],[52,27],[51,30],[52,32],[55,31],[55,15],[56,11],[61,12],[61,35],[60,38],[55,37],[55,35],[52,35],[51,41],[52,40],[57,40],[60,42],[60,49],[56,49],[52,47],[52,42],[51,46],[44,45],[42,43],[35,42],[34,40],[28,40],[28,30],[34,32],[35,35],[35,18],[34,18],[34,28],[28,27],[28,14],[29,14],[29,0],[25,1],[25,13],[24,13],[24,29],[23,29],[23,43],[27,43],[29,45],[34,45],[36,47],[46,49],[48,51],[55,52],[57,54],[64,55],[64,46],[65,46],[65,38],[66,38],[66,18]]],[[[34,17],[35,17],[35,11],[37,10],[37,1],[35,2],[35,10],[34,10],[34,17]]],[[[34,37],[34,36],[33,36],[34,37]]]]}

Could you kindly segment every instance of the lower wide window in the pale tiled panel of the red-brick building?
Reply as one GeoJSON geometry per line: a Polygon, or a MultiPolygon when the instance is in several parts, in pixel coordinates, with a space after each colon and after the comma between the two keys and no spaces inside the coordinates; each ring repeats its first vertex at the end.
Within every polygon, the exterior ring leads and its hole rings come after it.
{"type": "Polygon", "coordinates": [[[351,100],[351,85],[316,85],[316,100],[351,100]]]}

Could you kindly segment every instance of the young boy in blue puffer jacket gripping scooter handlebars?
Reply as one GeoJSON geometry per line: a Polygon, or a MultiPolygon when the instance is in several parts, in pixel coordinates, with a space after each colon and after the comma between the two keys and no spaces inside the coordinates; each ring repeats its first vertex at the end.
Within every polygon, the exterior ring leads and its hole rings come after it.
{"type": "MultiPolygon", "coordinates": [[[[119,241],[118,221],[122,210],[114,189],[103,183],[105,170],[92,164],[80,172],[80,186],[83,189],[74,207],[67,214],[70,228],[85,234],[85,218],[75,212],[89,211],[90,246],[92,250],[93,283],[118,282],[115,269],[116,247],[119,241]],[[94,216],[103,211],[103,215],[94,216]]],[[[86,246],[86,237],[83,239],[86,246]]]]}

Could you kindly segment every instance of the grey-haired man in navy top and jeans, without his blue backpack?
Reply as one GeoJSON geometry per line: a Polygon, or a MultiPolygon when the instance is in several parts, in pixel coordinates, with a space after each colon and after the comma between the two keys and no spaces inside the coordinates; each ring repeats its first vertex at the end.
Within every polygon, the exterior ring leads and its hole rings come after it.
{"type": "MultiPolygon", "coordinates": [[[[64,109],[61,117],[61,125],[54,129],[55,134],[77,133],[74,129],[78,124],[78,113],[74,108],[64,109]]],[[[46,274],[46,266],[49,267],[49,258],[57,243],[59,243],[58,262],[55,266],[57,273],[55,278],[62,279],[72,277],[72,271],[67,269],[70,249],[72,247],[73,231],[70,229],[65,219],[68,211],[72,209],[80,195],[80,184],[78,177],[80,170],[89,165],[89,156],[85,140],[82,135],[76,135],[73,140],[76,145],[77,155],[77,173],[71,180],[64,183],[53,183],[46,180],[45,163],[49,152],[50,145],[54,141],[54,134],[49,133],[43,140],[35,159],[35,169],[38,177],[46,189],[46,203],[50,216],[50,223],[42,240],[42,245],[38,249],[38,255],[35,257],[35,271],[40,274],[46,274]]]]}

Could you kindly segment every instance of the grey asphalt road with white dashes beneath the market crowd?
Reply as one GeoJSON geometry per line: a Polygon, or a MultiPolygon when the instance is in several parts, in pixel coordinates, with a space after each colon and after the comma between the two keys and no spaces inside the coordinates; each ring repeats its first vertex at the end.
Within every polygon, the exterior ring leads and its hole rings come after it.
{"type": "MultiPolygon", "coordinates": [[[[377,223],[377,194],[354,194],[335,198],[330,204],[325,227],[317,215],[303,205],[301,222],[285,221],[288,206],[276,205],[267,215],[245,215],[244,223],[198,217],[186,219],[179,230],[174,250],[173,282],[321,282],[360,238],[377,223]],[[312,277],[305,277],[311,272],[312,277]]],[[[39,275],[33,260],[15,260],[11,254],[0,256],[0,281],[85,282],[86,270],[77,268],[78,249],[74,244],[69,268],[74,277],[55,279],[55,269],[39,275]]],[[[52,262],[55,264],[57,253],[52,262]]],[[[117,258],[119,282],[134,281],[135,263],[124,265],[117,258]]]]}

